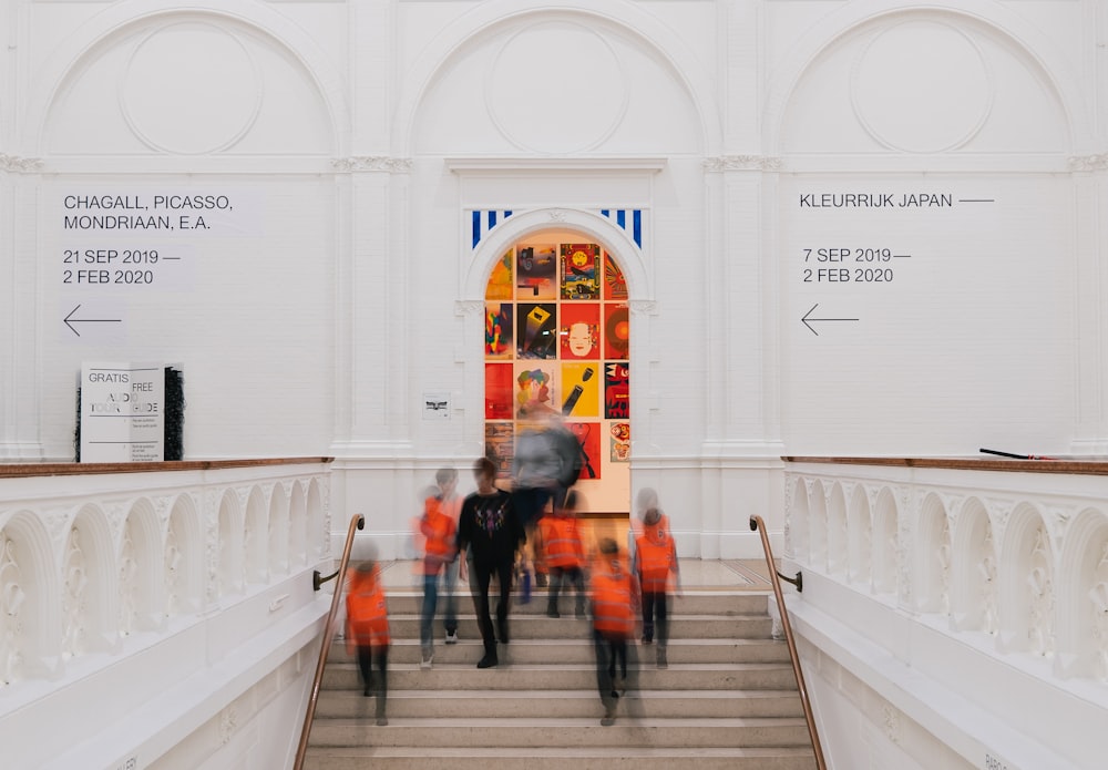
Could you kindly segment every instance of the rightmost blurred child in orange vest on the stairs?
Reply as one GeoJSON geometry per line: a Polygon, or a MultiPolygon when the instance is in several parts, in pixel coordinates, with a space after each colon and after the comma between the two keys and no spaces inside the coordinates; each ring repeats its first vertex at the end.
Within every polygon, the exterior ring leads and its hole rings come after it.
{"type": "Polygon", "coordinates": [[[658,495],[652,489],[638,493],[639,515],[635,522],[635,574],[643,591],[643,644],[657,637],[656,660],[659,668],[669,665],[666,646],[669,643],[670,581],[680,591],[680,567],[677,545],[669,530],[669,517],[658,507],[658,495]]]}

